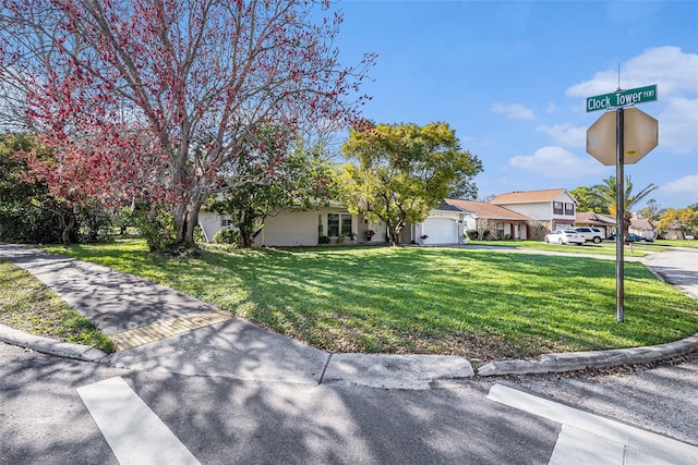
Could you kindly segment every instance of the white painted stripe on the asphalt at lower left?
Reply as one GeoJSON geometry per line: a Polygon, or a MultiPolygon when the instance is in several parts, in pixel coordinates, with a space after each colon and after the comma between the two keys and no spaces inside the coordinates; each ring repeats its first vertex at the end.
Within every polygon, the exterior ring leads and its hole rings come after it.
{"type": "Polygon", "coordinates": [[[77,393],[120,464],[198,464],[121,377],[80,387],[77,393]]]}

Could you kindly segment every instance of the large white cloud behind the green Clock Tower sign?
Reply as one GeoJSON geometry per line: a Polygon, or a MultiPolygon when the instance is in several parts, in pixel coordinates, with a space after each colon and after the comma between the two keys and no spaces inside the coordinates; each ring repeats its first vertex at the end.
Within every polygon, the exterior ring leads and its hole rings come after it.
{"type": "MultiPolygon", "coordinates": [[[[698,53],[684,53],[679,47],[655,47],[621,64],[621,87],[631,89],[657,84],[658,99],[698,91],[698,53]]],[[[569,97],[609,94],[618,87],[618,70],[600,71],[569,87],[569,97]]]]}

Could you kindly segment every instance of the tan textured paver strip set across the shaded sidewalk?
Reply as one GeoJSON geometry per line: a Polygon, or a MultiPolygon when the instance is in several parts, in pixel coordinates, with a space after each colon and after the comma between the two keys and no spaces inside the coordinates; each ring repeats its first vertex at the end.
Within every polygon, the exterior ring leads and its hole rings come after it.
{"type": "Polygon", "coordinates": [[[130,329],[112,334],[110,338],[117,344],[118,351],[125,351],[232,318],[232,314],[227,311],[202,311],[200,314],[157,321],[153,325],[130,329]]]}

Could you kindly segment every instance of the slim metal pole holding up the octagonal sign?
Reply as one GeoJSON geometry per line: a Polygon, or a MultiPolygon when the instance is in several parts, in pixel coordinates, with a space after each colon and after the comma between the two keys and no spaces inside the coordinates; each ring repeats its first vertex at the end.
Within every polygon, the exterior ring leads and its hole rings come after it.
{"type": "Polygon", "coordinates": [[[624,319],[624,294],[625,294],[625,268],[624,268],[624,245],[625,245],[625,228],[623,225],[625,212],[625,186],[623,166],[624,160],[624,110],[616,110],[615,117],[615,140],[616,140],[616,163],[615,163],[615,319],[623,321],[624,319]]]}

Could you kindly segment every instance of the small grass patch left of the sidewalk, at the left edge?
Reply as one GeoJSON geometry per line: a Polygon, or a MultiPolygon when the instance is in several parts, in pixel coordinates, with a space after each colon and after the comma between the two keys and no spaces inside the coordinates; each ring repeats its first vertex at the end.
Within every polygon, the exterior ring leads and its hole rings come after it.
{"type": "Polygon", "coordinates": [[[32,334],[91,345],[104,352],[116,344],[50,289],[21,268],[0,260],[0,322],[32,334]]]}

